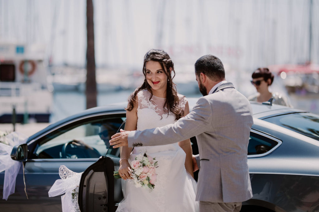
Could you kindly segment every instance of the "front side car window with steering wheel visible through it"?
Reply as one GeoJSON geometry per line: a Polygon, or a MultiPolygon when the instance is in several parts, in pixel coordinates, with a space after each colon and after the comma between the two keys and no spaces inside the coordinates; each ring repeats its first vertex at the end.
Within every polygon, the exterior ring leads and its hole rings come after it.
{"type": "Polygon", "coordinates": [[[124,116],[90,117],[58,128],[39,139],[32,158],[99,158],[108,152],[108,141],[125,120],[124,116]]]}

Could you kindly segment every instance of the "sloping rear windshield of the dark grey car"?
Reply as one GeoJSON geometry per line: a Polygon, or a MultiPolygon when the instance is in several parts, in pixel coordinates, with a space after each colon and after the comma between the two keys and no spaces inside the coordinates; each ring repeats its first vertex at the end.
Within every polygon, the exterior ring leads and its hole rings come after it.
{"type": "Polygon", "coordinates": [[[319,141],[319,116],[312,113],[291,113],[281,116],[269,117],[264,121],[277,124],[289,130],[319,141]]]}

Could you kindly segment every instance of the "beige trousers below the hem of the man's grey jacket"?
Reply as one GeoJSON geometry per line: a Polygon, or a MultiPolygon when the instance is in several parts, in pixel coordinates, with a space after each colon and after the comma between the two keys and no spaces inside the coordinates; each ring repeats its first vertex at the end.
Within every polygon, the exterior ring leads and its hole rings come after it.
{"type": "Polygon", "coordinates": [[[239,212],[241,202],[205,202],[199,201],[199,212],[239,212]]]}

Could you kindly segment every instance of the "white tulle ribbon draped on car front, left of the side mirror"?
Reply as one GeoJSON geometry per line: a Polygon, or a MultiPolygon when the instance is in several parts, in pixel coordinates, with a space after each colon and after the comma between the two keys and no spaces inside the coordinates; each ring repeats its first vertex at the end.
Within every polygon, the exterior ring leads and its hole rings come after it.
{"type": "Polygon", "coordinates": [[[12,148],[16,145],[25,144],[27,136],[19,132],[11,132],[4,137],[4,143],[0,142],[0,172],[4,172],[3,199],[8,200],[9,195],[14,193],[16,178],[22,162],[12,160],[12,148]]]}

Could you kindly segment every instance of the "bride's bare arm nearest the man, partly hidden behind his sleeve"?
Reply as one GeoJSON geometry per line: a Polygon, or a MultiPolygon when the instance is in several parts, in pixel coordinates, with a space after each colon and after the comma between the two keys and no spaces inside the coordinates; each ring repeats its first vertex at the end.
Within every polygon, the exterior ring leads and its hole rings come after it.
{"type": "MultiPolygon", "coordinates": [[[[185,104],[184,109],[184,116],[189,114],[189,105],[188,102],[185,104]]],[[[189,174],[194,178],[194,171],[193,171],[193,152],[192,152],[192,145],[190,144],[190,139],[186,139],[183,141],[178,142],[178,145],[184,150],[186,153],[185,158],[185,168],[189,172],[189,174]]]]}

